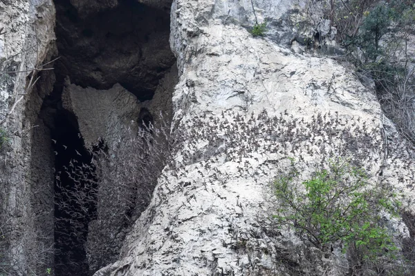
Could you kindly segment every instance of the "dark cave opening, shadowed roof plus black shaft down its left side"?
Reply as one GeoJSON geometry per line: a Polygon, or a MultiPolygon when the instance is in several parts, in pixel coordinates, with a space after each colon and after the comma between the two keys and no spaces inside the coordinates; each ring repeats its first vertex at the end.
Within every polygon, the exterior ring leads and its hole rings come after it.
{"type": "MultiPolygon", "coordinates": [[[[165,7],[150,8],[135,0],[99,2],[55,0],[59,59],[53,66],[53,92],[44,99],[39,119],[50,130],[55,158],[57,276],[88,276],[96,270],[89,263],[94,252],[86,250],[100,197],[93,156],[106,150],[102,141],[95,148],[85,147],[77,117],[63,108],[65,81],[99,90],[120,83],[139,101],[149,101],[176,62],[165,7]]],[[[148,110],[141,115],[145,123],[153,120],[148,110]]]]}

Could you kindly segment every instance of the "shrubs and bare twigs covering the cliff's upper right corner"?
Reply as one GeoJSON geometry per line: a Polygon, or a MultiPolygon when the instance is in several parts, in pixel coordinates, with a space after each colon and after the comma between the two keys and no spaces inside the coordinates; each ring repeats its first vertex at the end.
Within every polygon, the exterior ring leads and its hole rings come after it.
{"type": "Polygon", "coordinates": [[[384,112],[415,144],[415,60],[410,50],[415,33],[414,1],[352,0],[353,6],[342,3],[344,8],[335,10],[337,6],[332,6],[327,14],[353,14],[350,19],[338,21],[349,61],[360,75],[374,79],[384,112]]]}

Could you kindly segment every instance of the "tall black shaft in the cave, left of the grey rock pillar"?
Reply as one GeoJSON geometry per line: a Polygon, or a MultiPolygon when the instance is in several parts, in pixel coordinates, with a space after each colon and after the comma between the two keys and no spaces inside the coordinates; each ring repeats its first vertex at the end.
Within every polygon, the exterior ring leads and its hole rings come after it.
{"type": "Polygon", "coordinates": [[[55,150],[55,275],[88,275],[84,244],[89,221],[96,216],[95,166],[75,116],[58,109],[54,121],[50,134],[55,150]]]}

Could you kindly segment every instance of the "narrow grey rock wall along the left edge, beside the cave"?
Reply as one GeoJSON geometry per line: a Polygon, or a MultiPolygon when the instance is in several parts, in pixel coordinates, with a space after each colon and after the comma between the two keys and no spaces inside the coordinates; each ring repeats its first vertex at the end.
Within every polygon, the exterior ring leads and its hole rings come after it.
{"type": "Polygon", "coordinates": [[[34,69],[55,53],[55,7],[50,0],[7,0],[0,14],[0,127],[9,135],[0,152],[1,270],[44,273],[53,266],[53,155],[37,118],[54,75],[34,69]]]}

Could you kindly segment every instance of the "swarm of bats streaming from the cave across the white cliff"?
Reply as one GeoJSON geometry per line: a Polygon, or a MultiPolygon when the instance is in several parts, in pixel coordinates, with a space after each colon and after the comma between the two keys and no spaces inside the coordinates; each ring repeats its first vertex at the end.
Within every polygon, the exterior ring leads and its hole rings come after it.
{"type": "MultiPolygon", "coordinates": [[[[62,253],[67,255],[63,262],[76,264],[71,252],[80,246],[91,270],[113,262],[132,222],[147,208],[159,177],[167,179],[162,175],[164,168],[180,179],[188,175],[187,167],[193,164],[205,181],[225,183],[230,175],[216,168],[219,157],[237,161],[240,177],[255,178],[270,174],[278,161],[266,158],[259,166],[252,166],[248,160],[278,155],[294,157],[305,166],[311,166],[309,160],[323,165],[333,157],[353,157],[356,166],[368,171],[387,159],[390,166],[402,166],[396,170],[397,177],[407,173],[415,151],[403,147],[404,142],[385,137],[382,125],[375,122],[338,112],[306,118],[294,117],[287,110],[273,117],[266,110],[259,115],[228,110],[219,116],[203,113],[177,120],[174,127],[163,119],[156,126],[143,124],[138,132],[126,127],[118,144],[106,145],[102,140],[89,149],[89,164],[73,159],[55,175],[57,243],[72,248],[62,253]],[[173,158],[178,155],[182,158],[173,158]],[[399,159],[407,162],[401,165],[399,159]],[[71,186],[62,186],[63,176],[71,186]]],[[[175,193],[168,183],[166,189],[175,193]]]]}

